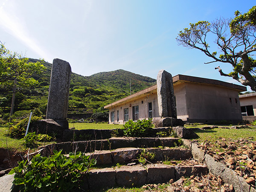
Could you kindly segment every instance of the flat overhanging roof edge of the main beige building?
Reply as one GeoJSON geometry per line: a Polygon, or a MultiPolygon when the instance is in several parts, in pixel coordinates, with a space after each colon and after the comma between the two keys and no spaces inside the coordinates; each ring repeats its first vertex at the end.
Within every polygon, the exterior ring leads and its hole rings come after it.
{"type": "MultiPolygon", "coordinates": [[[[193,76],[185,76],[185,75],[176,75],[172,77],[172,81],[173,81],[173,85],[178,85],[184,82],[192,82],[192,83],[198,83],[198,84],[212,84],[212,85],[216,85],[216,86],[221,86],[221,87],[227,87],[230,89],[235,89],[238,92],[241,91],[246,91],[247,88],[241,85],[237,85],[237,84],[233,84],[233,83],[227,83],[224,81],[219,81],[219,80],[215,80],[215,79],[207,79],[207,78],[201,78],[201,77],[193,77],[193,76]]],[[[106,105],[104,108],[108,109],[111,108],[112,106],[115,106],[117,104],[122,104],[122,103],[126,103],[129,102],[131,100],[134,100],[136,98],[140,98],[144,95],[148,95],[148,94],[152,94],[152,93],[157,93],[157,84],[154,84],[146,89],[143,89],[137,93],[134,93],[130,96],[127,96],[123,99],[120,99],[116,102],[113,102],[109,105],[106,105]]]]}

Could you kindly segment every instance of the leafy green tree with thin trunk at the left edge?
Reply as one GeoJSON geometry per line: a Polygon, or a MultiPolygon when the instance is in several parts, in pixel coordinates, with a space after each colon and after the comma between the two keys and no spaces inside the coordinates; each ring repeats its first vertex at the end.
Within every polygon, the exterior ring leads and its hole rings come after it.
{"type": "Polygon", "coordinates": [[[3,44],[0,44],[0,87],[13,88],[10,120],[14,108],[15,93],[20,88],[38,84],[38,81],[32,76],[45,70],[42,62],[43,60],[35,63],[28,62],[28,58],[22,58],[21,55],[10,52],[3,44]]]}

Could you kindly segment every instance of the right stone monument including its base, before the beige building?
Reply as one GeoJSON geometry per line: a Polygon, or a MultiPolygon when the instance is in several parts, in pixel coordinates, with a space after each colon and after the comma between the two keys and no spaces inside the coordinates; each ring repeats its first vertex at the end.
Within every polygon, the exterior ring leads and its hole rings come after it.
{"type": "Polygon", "coordinates": [[[184,125],[181,119],[177,119],[172,75],[165,70],[160,70],[157,74],[157,100],[161,119],[156,122],[156,127],[184,125]]]}

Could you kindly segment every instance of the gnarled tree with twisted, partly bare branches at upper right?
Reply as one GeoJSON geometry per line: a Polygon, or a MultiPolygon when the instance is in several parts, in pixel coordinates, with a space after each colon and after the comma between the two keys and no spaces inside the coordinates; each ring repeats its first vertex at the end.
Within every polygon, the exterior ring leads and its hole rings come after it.
{"type": "MultiPolygon", "coordinates": [[[[190,23],[190,28],[180,31],[176,38],[179,45],[199,49],[212,58],[214,62],[231,64],[233,71],[224,73],[218,69],[221,76],[232,77],[245,86],[256,91],[256,6],[247,13],[235,12],[233,19],[219,18],[210,23],[198,21],[190,23]],[[215,35],[215,44],[219,50],[211,50],[207,43],[209,35],[215,35]]],[[[206,64],[208,64],[206,63],[206,64]]]]}

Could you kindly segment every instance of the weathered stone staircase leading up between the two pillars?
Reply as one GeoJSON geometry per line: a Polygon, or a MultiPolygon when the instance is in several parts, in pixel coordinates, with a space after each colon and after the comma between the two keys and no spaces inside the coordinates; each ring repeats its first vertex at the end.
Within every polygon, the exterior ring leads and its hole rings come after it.
{"type": "Polygon", "coordinates": [[[112,137],[105,140],[55,143],[42,148],[47,155],[52,149],[66,154],[82,151],[97,160],[97,169],[91,169],[84,180],[83,189],[111,188],[113,186],[142,186],[166,183],[182,176],[201,176],[208,173],[204,164],[192,160],[192,151],[185,148],[180,139],[112,137]],[[154,153],[154,159],[143,165],[139,162],[142,153],[154,153]],[[163,164],[168,160],[171,165],[163,164]],[[189,161],[188,161],[189,160],[189,161]],[[187,162],[189,163],[187,163],[187,162]],[[104,168],[102,168],[104,167],[104,168]]]}

